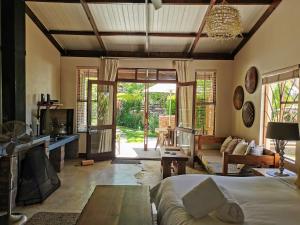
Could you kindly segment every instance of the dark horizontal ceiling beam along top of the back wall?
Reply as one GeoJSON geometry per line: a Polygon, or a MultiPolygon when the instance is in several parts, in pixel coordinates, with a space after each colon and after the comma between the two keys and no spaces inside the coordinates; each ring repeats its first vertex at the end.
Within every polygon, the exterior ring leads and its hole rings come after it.
{"type": "Polygon", "coordinates": [[[62,56],[72,57],[125,57],[125,58],[182,58],[202,60],[233,60],[228,53],[195,53],[191,56],[181,52],[127,52],[127,51],[86,51],[66,50],[62,56]]]}

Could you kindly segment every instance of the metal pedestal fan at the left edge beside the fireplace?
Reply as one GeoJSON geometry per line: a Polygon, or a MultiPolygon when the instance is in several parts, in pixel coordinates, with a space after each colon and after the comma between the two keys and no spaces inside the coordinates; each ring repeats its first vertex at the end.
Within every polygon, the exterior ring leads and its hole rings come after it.
{"type": "Polygon", "coordinates": [[[13,189],[15,189],[13,177],[16,175],[12,170],[13,159],[16,154],[16,145],[27,144],[32,141],[31,128],[20,121],[9,121],[0,127],[0,145],[6,150],[7,157],[10,158],[10,171],[8,176],[8,206],[7,214],[0,217],[1,225],[22,225],[27,221],[27,217],[22,214],[12,213],[13,189]]]}

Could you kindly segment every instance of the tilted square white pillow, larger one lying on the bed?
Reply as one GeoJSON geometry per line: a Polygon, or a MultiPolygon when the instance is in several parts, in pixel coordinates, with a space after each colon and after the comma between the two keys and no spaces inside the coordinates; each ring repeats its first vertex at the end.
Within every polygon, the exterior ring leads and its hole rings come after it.
{"type": "Polygon", "coordinates": [[[215,181],[209,177],[185,194],[182,202],[187,213],[195,218],[202,218],[224,205],[226,198],[215,181]]]}

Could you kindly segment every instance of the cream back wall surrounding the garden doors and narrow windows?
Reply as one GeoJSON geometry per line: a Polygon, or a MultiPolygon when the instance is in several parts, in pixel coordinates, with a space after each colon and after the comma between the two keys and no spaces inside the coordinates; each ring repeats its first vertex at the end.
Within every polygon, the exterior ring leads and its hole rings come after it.
{"type": "MultiPolygon", "coordinates": [[[[190,74],[194,76],[198,69],[216,70],[217,72],[217,106],[216,106],[216,135],[231,134],[231,108],[232,102],[232,61],[194,60],[191,62],[190,74]]],[[[61,101],[65,107],[76,107],[76,68],[98,67],[98,58],[62,57],[61,59],[61,101]]],[[[170,59],[121,59],[119,67],[122,68],[173,68],[170,59]]],[[[85,135],[80,138],[80,152],[85,152],[85,135]]]]}

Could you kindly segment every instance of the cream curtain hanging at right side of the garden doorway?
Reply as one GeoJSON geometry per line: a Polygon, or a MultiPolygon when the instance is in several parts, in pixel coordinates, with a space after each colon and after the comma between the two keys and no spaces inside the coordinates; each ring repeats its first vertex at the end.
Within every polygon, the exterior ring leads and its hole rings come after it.
{"type": "Polygon", "coordinates": [[[178,126],[184,128],[193,128],[194,86],[190,82],[195,81],[195,75],[190,72],[188,61],[174,61],[174,66],[177,71],[179,83],[178,126]]]}

